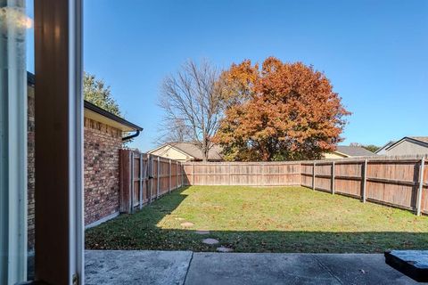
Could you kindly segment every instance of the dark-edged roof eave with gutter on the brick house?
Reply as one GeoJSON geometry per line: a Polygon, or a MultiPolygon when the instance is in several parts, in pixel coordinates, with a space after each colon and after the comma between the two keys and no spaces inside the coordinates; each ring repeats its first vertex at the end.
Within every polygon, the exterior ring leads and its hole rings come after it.
{"type": "MultiPolygon", "coordinates": [[[[34,86],[36,78],[33,73],[27,72],[27,82],[29,85],[34,86]]],[[[124,118],[114,115],[113,113],[103,110],[91,102],[84,101],[84,112],[86,118],[91,118],[109,126],[113,126],[122,132],[143,131],[143,127],[136,126],[124,118]]]]}

